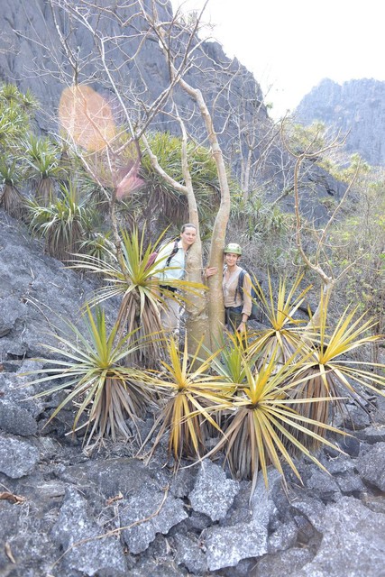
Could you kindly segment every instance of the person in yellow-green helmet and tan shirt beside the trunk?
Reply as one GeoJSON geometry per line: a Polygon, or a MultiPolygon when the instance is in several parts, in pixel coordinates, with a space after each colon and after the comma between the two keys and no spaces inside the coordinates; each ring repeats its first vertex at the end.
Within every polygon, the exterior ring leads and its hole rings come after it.
{"type": "MultiPolygon", "coordinates": [[[[243,291],[238,290],[239,275],[242,267],[238,262],[242,256],[242,247],[237,243],[228,243],[224,249],[225,269],[222,281],[225,300],[225,323],[240,333],[246,330],[247,319],[252,312],[252,279],[248,272],[243,278],[243,291]]],[[[212,272],[211,274],[215,274],[212,272]]],[[[211,276],[207,274],[207,276],[211,276]]]]}

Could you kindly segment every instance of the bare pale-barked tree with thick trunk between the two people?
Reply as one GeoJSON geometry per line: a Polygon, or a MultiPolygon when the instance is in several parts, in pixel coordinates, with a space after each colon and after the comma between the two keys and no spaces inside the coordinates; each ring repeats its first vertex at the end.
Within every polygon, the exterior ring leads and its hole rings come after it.
{"type": "MultiPolygon", "coordinates": [[[[202,13],[186,23],[180,14],[175,16],[169,14],[166,3],[160,0],[116,3],[114,8],[101,0],[97,2],[81,0],[76,5],[69,0],[49,1],[60,39],[61,58],[65,59],[66,66],[71,71],[67,75],[67,82],[70,85],[75,83],[77,86],[77,83],[81,85],[90,80],[97,80],[101,90],[108,94],[113,111],[115,109],[121,115],[121,125],[126,127],[129,135],[123,143],[122,139],[118,138],[121,132],[115,132],[114,137],[108,142],[105,135],[102,135],[105,143],[105,165],[112,175],[112,187],[110,184],[109,190],[112,188],[113,192],[109,202],[112,222],[115,224],[115,243],[118,252],[119,238],[114,217],[116,191],[122,180],[133,179],[135,167],[133,165],[127,167],[127,173],[118,181],[115,178],[116,166],[119,159],[124,157],[124,152],[140,141],[144,142],[153,168],[187,198],[189,220],[197,224],[199,230],[197,199],[189,177],[187,158],[187,142],[193,138],[194,142],[202,142],[210,148],[216,164],[220,204],[215,216],[208,265],[221,270],[226,227],[230,215],[230,189],[218,134],[224,130],[229,110],[220,110],[221,105],[225,108],[224,99],[222,98],[221,104],[217,95],[208,105],[197,84],[197,78],[201,78],[202,73],[214,81],[218,76],[218,70],[222,69],[213,59],[207,59],[203,50],[204,41],[197,36],[202,13]],[[88,41],[92,40],[92,50],[88,50],[92,60],[91,66],[89,60],[86,63],[82,50],[78,49],[75,43],[75,31],[79,27],[87,32],[88,41]],[[153,98],[149,98],[147,94],[148,70],[143,68],[139,58],[141,51],[149,50],[149,47],[156,59],[160,60],[163,74],[159,93],[153,98]],[[133,67],[138,74],[130,83],[127,81],[127,72],[133,67]],[[167,78],[164,78],[165,74],[167,78]],[[180,91],[188,97],[182,98],[180,91]],[[176,182],[167,171],[160,168],[145,137],[149,127],[156,127],[160,116],[164,118],[166,113],[168,118],[175,120],[172,124],[173,131],[176,132],[179,127],[182,135],[183,182],[176,182]],[[216,127],[215,124],[218,123],[219,127],[216,127]]],[[[56,60],[59,63],[59,57],[56,57],[56,60]]],[[[227,67],[228,78],[234,78],[234,69],[229,69],[229,63],[227,67]]],[[[62,64],[61,69],[65,68],[62,64]]],[[[63,74],[61,78],[64,78],[63,74]]],[[[96,117],[94,122],[97,122],[96,117]]],[[[85,158],[85,161],[98,183],[105,185],[100,173],[96,174],[97,163],[90,162],[89,157],[85,158]]],[[[119,171],[119,176],[122,177],[122,171],[119,171]]],[[[130,187],[126,188],[125,194],[129,189],[130,187]]],[[[106,194],[111,194],[105,190],[106,194]]],[[[194,282],[201,281],[202,268],[202,245],[198,238],[188,254],[188,279],[194,282]]],[[[221,341],[223,333],[222,275],[218,274],[209,279],[208,308],[206,293],[203,290],[191,300],[191,306],[188,307],[188,333],[193,340],[198,340],[202,334],[206,334],[214,346],[221,341]]]]}

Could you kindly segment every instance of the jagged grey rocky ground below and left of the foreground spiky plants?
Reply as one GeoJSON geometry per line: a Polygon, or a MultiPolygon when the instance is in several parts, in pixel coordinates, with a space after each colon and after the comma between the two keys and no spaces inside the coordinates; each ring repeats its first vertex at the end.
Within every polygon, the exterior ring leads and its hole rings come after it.
{"type": "Polygon", "coordinates": [[[285,491],[271,470],[251,500],[250,482],[220,463],[173,475],[164,446],[148,465],[123,442],[87,455],[80,433],[67,435],[71,408],[44,427],[58,397],[33,398],[23,373],[43,371],[33,357],[50,321],[76,321],[95,285],[2,212],[0,278],[2,577],[385,575],[384,398],[372,398],[371,420],[350,407],[345,454],[319,455],[328,473],[298,463],[304,485],[289,475],[285,491]]]}

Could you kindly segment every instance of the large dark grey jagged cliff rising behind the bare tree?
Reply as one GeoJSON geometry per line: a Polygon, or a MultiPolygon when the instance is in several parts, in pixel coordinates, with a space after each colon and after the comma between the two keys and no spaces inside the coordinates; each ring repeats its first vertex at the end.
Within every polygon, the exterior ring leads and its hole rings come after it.
{"type": "MultiPolygon", "coordinates": [[[[37,117],[41,130],[58,133],[60,95],[64,87],[73,84],[75,78],[78,83],[87,82],[94,87],[113,104],[113,108],[115,95],[98,58],[92,33],[76,19],[70,20],[69,14],[62,8],[64,3],[55,0],[53,4],[60,5],[54,12],[50,9],[49,0],[20,0],[19,3],[0,0],[0,81],[14,82],[22,91],[31,89],[32,94],[41,102],[42,110],[37,117]],[[53,14],[56,21],[53,20],[53,14]],[[76,66],[69,65],[57,29],[62,31],[67,51],[71,52],[72,60],[77,62],[76,66]]],[[[151,10],[149,0],[142,4],[151,10]]],[[[97,0],[96,3],[81,5],[79,11],[82,14],[88,11],[96,13],[97,6],[111,8],[110,5],[109,0],[97,0]]],[[[170,20],[170,2],[157,2],[156,5],[160,19],[170,20]]],[[[112,65],[115,85],[132,111],[133,122],[136,122],[137,117],[142,117],[142,120],[146,117],[146,107],[170,83],[169,68],[161,56],[159,43],[151,33],[143,32],[146,26],[139,16],[133,16],[136,14],[135,9],[134,2],[119,2],[114,4],[109,13],[99,14],[97,24],[96,16],[90,17],[97,33],[105,38],[119,39],[105,43],[107,64],[112,65]],[[119,18],[115,14],[117,6],[119,18]],[[137,57],[133,60],[136,52],[137,57]]],[[[177,46],[184,46],[187,41],[188,36],[180,32],[177,46]]],[[[192,44],[197,42],[195,38],[192,44]]],[[[274,127],[267,113],[258,82],[239,61],[228,59],[217,42],[202,42],[193,51],[190,59],[192,62],[194,65],[188,66],[184,78],[202,92],[212,114],[225,160],[232,167],[234,175],[241,181],[242,175],[247,173],[244,160],[251,146],[254,168],[246,188],[250,193],[258,188],[263,190],[268,202],[282,197],[283,193],[284,199],[280,206],[292,212],[295,160],[289,157],[280,142],[280,129],[274,127]]],[[[186,120],[188,132],[197,142],[205,142],[206,128],[201,115],[196,114],[196,102],[178,85],[173,89],[172,98],[186,120]]],[[[160,105],[159,112],[151,121],[151,129],[180,134],[179,124],[169,114],[170,106],[170,101],[160,105]]],[[[306,217],[319,224],[327,218],[329,197],[334,196],[338,202],[344,192],[344,185],[309,163],[305,170],[308,178],[302,180],[301,205],[304,206],[306,217]]]]}

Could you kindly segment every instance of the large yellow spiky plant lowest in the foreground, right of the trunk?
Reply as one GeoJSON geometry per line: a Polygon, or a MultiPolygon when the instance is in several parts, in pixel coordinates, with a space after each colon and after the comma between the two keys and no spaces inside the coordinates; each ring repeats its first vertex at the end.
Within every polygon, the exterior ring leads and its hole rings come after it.
{"type": "MultiPolygon", "coordinates": [[[[295,401],[289,398],[289,392],[307,380],[306,376],[297,377],[303,361],[298,361],[297,352],[281,365],[279,354],[276,348],[270,354],[269,362],[265,362],[260,370],[252,370],[247,362],[243,362],[245,381],[234,389],[231,414],[223,425],[224,436],[206,455],[212,456],[225,450],[225,459],[232,473],[241,479],[252,479],[252,491],[259,470],[268,484],[269,464],[285,478],[282,461],[289,464],[300,480],[292,458],[292,454],[296,452],[307,455],[325,470],[322,463],[308,450],[306,439],[310,437],[316,443],[334,446],[312,430],[312,427],[340,433],[335,427],[304,417],[293,408],[295,401]]],[[[228,397],[226,400],[229,400],[228,397]]],[[[322,399],[303,399],[302,403],[310,404],[319,400],[322,399]]]]}

